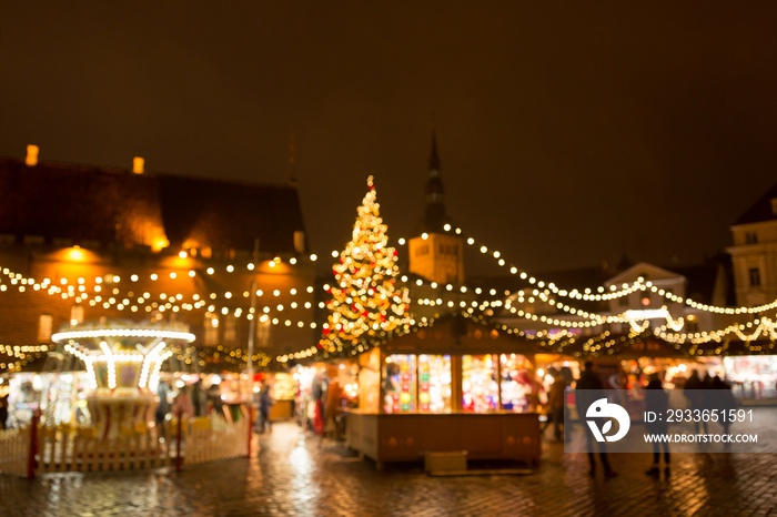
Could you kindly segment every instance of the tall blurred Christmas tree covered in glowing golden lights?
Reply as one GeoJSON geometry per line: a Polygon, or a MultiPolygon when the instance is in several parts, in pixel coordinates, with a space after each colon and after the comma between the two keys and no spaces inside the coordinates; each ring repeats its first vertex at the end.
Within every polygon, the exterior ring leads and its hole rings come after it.
{"type": "Polygon", "coordinates": [[[367,179],[370,191],[359,207],[353,239],[332,268],[335,282],[330,290],[329,322],[320,342],[323,352],[347,351],[360,338],[392,332],[408,320],[407,290],[395,288],[396,250],[386,245],[386,225],[375,202],[372,180],[367,179]]]}

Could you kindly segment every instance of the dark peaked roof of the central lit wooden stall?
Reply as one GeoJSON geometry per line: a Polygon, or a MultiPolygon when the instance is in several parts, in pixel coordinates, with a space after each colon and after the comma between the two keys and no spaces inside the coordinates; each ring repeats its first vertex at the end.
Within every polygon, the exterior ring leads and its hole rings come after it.
{"type": "Polygon", "coordinates": [[[385,352],[431,354],[523,354],[547,352],[525,337],[462,315],[434,320],[425,327],[393,337],[381,345],[385,352]]]}

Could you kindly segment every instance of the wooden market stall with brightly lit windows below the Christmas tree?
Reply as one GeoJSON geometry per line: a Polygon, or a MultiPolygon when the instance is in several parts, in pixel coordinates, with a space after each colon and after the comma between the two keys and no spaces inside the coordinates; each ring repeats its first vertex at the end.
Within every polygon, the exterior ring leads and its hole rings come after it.
{"type": "Polygon", "coordinates": [[[462,316],[372,348],[360,356],[360,407],[349,410],[347,444],[379,468],[444,452],[537,465],[539,352],[462,316]]]}

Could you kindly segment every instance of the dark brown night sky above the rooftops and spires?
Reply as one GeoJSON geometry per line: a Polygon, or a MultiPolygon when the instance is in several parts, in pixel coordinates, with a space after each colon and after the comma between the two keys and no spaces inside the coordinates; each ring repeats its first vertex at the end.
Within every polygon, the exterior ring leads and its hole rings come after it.
{"type": "MultiPolygon", "coordinates": [[[[312,251],[375,175],[528,271],[699,263],[777,181],[777,2],[0,0],[0,155],[284,182],[312,251]]],[[[0,201],[1,202],[1,201],[0,201]]]]}

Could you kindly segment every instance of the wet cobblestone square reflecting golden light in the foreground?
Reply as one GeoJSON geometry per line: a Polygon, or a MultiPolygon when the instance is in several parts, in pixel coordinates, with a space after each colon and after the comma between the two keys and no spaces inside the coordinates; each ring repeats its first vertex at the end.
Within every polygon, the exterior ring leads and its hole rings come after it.
{"type": "Polygon", "coordinates": [[[377,470],[341,442],[294,424],[254,436],[251,458],[186,468],[0,478],[0,515],[777,515],[774,455],[677,454],[647,476],[648,455],[610,455],[618,476],[588,475],[584,455],[545,444],[528,475],[428,476],[418,465],[377,470]]]}

